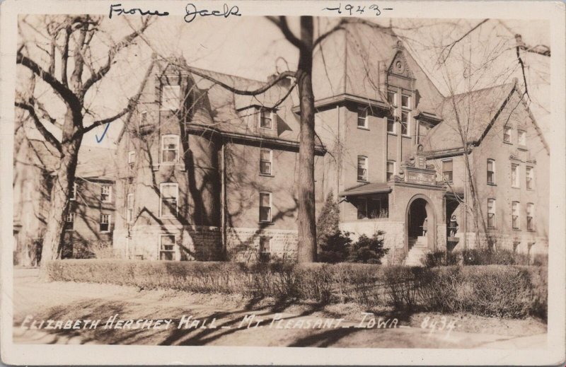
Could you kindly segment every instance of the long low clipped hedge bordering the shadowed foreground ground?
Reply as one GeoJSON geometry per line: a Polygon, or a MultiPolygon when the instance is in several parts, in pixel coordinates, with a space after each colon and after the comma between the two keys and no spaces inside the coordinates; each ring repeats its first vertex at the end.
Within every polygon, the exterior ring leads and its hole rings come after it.
{"type": "Polygon", "coordinates": [[[546,318],[546,267],[384,267],[374,264],[240,264],[144,260],[55,260],[52,281],[239,293],[319,303],[546,318]]]}

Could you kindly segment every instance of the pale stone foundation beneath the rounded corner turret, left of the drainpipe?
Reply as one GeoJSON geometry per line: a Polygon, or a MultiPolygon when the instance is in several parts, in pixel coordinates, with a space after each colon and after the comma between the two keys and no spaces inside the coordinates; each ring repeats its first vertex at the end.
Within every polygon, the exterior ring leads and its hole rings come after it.
{"type": "Polygon", "coordinates": [[[175,235],[175,260],[221,260],[222,237],[218,227],[134,226],[128,233],[114,231],[114,247],[128,259],[158,260],[161,235],[175,235]]]}

